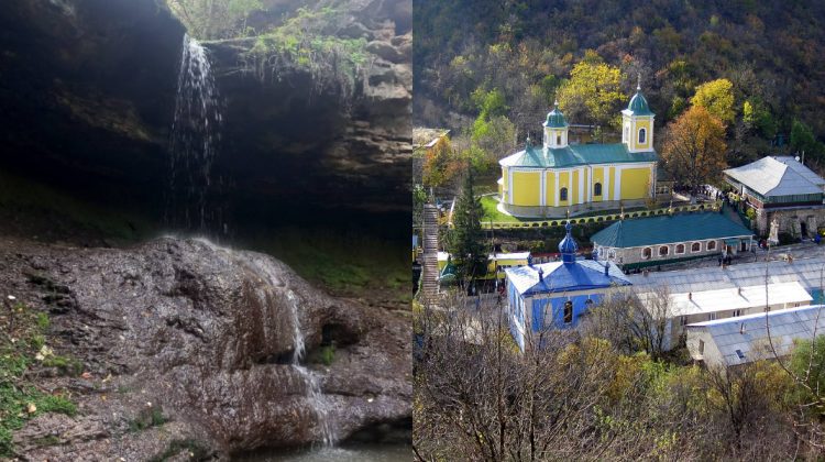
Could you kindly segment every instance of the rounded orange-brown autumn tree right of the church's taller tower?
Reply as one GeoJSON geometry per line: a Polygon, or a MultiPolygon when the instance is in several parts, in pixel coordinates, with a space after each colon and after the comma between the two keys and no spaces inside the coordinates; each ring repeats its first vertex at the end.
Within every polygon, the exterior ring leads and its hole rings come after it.
{"type": "Polygon", "coordinates": [[[716,179],[727,167],[725,127],[702,106],[693,106],[668,125],[664,168],[690,187],[716,179]]]}

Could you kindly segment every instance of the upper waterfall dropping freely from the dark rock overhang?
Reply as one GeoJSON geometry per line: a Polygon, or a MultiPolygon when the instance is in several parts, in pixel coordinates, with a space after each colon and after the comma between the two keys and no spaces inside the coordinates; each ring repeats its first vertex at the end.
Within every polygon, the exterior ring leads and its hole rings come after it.
{"type": "Polygon", "coordinates": [[[226,232],[222,207],[215,200],[223,182],[212,172],[222,120],[206,48],[184,35],[169,141],[166,223],[173,229],[226,232]]]}

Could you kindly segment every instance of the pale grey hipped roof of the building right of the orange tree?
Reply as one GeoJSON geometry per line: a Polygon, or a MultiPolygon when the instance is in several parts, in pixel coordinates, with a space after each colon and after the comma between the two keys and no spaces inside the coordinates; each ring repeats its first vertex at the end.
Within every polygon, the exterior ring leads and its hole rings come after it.
{"type": "Polygon", "coordinates": [[[823,193],[823,180],[793,157],[763,157],[725,175],[762,196],[791,196],[823,193]]]}

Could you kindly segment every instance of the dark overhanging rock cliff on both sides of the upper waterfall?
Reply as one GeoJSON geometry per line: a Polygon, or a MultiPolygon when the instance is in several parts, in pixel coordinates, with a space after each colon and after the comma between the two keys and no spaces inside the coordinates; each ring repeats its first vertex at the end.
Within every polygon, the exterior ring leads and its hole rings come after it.
{"type": "MultiPolygon", "coordinates": [[[[345,103],[331,90],[309,91],[312,81],[299,72],[278,81],[240,72],[250,41],[208,45],[226,103],[216,160],[224,180],[209,194],[235,215],[297,202],[408,210],[410,4],[340,2],[348,33],[366,38],[370,53],[345,103]]],[[[255,24],[265,30],[276,20],[262,15],[255,24]]],[[[184,32],[155,0],[6,6],[0,168],[161,217],[184,32]]]]}

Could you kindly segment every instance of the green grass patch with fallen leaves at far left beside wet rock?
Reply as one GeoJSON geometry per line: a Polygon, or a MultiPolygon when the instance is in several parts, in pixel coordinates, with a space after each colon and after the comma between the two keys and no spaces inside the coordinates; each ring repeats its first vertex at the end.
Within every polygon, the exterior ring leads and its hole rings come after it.
{"type": "Polygon", "coordinates": [[[0,316],[0,457],[16,455],[13,432],[30,419],[46,413],[77,414],[77,406],[66,396],[45,393],[25,377],[26,371],[37,366],[37,358],[54,358],[42,355],[48,329],[44,316],[22,304],[3,308],[0,316]]]}

